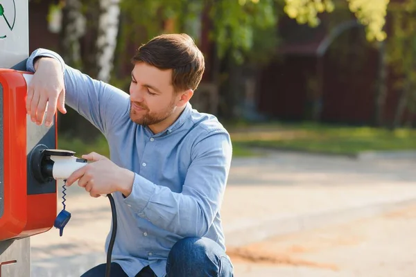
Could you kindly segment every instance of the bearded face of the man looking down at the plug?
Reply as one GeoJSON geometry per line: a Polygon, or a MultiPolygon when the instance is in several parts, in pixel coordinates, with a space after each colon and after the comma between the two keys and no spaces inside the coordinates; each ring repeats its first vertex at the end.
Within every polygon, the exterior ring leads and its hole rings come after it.
{"type": "Polygon", "coordinates": [[[180,96],[172,85],[172,69],[160,70],[137,62],[130,83],[130,118],[139,125],[155,125],[175,111],[180,96]]]}

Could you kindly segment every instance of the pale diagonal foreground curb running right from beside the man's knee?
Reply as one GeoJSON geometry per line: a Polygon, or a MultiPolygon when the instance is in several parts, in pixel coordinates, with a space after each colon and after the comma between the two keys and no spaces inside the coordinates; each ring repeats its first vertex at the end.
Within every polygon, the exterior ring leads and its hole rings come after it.
{"type": "Polygon", "coordinates": [[[303,215],[279,216],[262,222],[255,222],[255,219],[250,219],[228,226],[225,230],[225,242],[227,247],[242,247],[278,235],[288,235],[380,215],[410,204],[416,204],[416,195],[303,215]]]}

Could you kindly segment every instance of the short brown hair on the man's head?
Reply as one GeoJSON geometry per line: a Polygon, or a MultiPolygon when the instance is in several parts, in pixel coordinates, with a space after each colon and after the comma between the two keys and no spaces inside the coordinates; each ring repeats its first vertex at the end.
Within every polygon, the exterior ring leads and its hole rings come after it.
{"type": "Polygon", "coordinates": [[[146,62],[158,69],[173,69],[175,91],[196,90],[205,71],[205,60],[187,34],[158,35],[137,49],[132,63],[146,62]]]}

